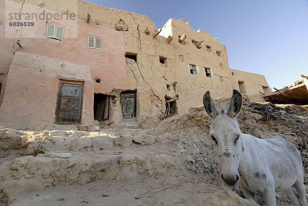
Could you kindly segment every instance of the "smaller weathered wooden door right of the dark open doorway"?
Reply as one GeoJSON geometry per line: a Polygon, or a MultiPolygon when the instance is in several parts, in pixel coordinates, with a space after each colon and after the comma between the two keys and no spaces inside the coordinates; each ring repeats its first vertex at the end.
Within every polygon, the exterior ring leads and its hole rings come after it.
{"type": "Polygon", "coordinates": [[[120,97],[123,118],[136,117],[136,92],[121,93],[120,97]]]}

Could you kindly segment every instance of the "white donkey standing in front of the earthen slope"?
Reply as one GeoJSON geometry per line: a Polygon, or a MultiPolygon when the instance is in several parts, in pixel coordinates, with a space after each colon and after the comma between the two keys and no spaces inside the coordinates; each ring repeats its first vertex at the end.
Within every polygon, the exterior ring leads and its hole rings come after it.
{"type": "Polygon", "coordinates": [[[267,206],[276,205],[275,191],[283,191],[294,205],[307,205],[301,155],[294,144],[282,137],[258,139],[241,133],[236,117],[242,108],[242,96],[237,90],[233,90],[226,113],[218,113],[209,91],[203,104],[211,117],[209,135],[221,178],[227,185],[239,182],[246,199],[256,201],[256,194],[261,194],[267,206]]]}

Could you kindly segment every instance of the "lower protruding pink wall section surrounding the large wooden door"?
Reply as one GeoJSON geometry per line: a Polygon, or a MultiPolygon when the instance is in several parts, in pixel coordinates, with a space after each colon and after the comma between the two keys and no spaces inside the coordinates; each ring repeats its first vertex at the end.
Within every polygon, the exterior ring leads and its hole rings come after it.
{"type": "Polygon", "coordinates": [[[0,107],[0,124],[10,128],[43,129],[55,120],[59,79],[84,82],[81,124],[93,121],[93,81],[88,66],[18,52],[10,66],[0,107]]]}

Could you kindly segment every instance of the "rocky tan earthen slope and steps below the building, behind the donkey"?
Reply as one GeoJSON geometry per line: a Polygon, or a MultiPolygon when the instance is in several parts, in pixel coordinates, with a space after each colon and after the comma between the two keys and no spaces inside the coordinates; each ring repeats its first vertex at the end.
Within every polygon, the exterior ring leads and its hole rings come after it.
{"type": "MultiPolygon", "coordinates": [[[[238,122],[243,133],[294,143],[307,184],[307,119],[307,106],[244,98],[238,122]]],[[[222,182],[209,125],[204,108],[194,107],[143,130],[2,127],[0,205],[257,205],[222,182]]],[[[277,205],[291,204],[283,193],[276,196],[277,205]]],[[[263,205],[261,197],[258,203],[263,205]]]]}

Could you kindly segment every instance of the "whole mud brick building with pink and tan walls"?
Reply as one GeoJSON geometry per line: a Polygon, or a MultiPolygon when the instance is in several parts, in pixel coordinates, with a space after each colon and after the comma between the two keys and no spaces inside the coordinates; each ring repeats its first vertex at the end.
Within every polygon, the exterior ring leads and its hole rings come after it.
{"type": "Polygon", "coordinates": [[[23,2],[0,5],[3,126],[139,122],[185,113],[207,90],[218,98],[238,89],[252,100],[271,92],[264,76],[229,68],[225,45],[184,19],[157,28],[147,16],[84,1],[23,2]],[[10,13],[42,11],[53,18],[9,26],[10,13]]]}

